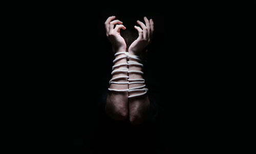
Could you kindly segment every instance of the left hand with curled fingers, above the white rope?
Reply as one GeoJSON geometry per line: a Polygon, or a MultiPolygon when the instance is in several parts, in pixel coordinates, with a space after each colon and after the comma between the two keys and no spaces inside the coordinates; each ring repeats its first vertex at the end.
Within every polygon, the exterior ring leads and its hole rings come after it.
{"type": "Polygon", "coordinates": [[[125,30],[126,28],[123,25],[116,25],[116,24],[123,24],[123,23],[122,21],[114,20],[115,18],[116,18],[115,16],[110,16],[108,19],[106,19],[105,21],[106,36],[112,43],[114,52],[125,51],[126,43],[123,37],[120,35],[120,29],[125,30]],[[116,27],[114,29],[115,25],[116,27]]]}

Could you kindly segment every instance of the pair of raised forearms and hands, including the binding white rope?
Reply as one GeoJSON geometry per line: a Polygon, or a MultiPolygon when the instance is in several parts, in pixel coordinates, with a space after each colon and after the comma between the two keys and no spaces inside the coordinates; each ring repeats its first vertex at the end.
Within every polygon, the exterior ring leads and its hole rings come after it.
{"type": "MultiPolygon", "coordinates": [[[[112,43],[114,53],[116,53],[116,51],[118,51],[118,53],[125,52],[126,43],[124,38],[120,35],[120,29],[125,30],[126,28],[123,25],[120,25],[122,24],[122,21],[114,19],[115,16],[110,16],[104,23],[106,36],[112,43]],[[118,50],[115,51],[115,49],[118,50]]],[[[134,27],[138,30],[139,37],[128,49],[129,61],[133,62],[127,63],[127,53],[125,53],[126,55],[123,53],[120,55],[118,53],[115,54],[116,57],[113,61],[114,71],[112,72],[109,94],[105,106],[106,113],[116,120],[126,119],[129,113],[130,121],[133,124],[141,123],[146,118],[146,113],[150,106],[150,101],[145,95],[147,89],[142,77],[142,64],[138,63],[139,61],[136,60],[138,59],[138,56],[130,56],[142,53],[143,49],[152,40],[154,31],[153,20],[148,20],[144,17],[144,21],[146,25],[137,20],[137,24],[139,24],[142,29],[138,26],[134,27]],[[127,65],[129,66],[129,69],[127,65]]]]}

